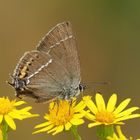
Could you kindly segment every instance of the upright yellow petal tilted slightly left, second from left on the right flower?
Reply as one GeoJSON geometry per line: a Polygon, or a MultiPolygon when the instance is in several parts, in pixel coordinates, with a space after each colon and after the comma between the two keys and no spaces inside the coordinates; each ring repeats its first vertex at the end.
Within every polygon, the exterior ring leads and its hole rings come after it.
{"type": "Polygon", "coordinates": [[[103,96],[97,93],[95,96],[95,100],[96,100],[98,111],[100,112],[100,111],[105,110],[105,101],[104,101],[103,96]]]}

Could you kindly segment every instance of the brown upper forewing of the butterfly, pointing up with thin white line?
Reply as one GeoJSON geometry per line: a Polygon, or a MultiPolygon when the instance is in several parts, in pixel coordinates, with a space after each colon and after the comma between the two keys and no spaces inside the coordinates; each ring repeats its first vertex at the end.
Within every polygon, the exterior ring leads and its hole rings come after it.
{"type": "Polygon", "coordinates": [[[78,87],[81,81],[80,64],[70,22],[63,22],[52,28],[37,45],[37,50],[49,53],[54,60],[61,63],[63,69],[66,69],[69,73],[68,78],[71,79],[71,85],[66,87],[78,87]]]}

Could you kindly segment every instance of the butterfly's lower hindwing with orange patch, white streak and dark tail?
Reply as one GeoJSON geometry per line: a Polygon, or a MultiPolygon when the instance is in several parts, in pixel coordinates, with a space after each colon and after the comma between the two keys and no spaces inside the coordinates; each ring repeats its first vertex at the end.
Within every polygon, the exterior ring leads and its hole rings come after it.
{"type": "Polygon", "coordinates": [[[51,63],[52,59],[48,54],[36,50],[26,52],[20,59],[12,76],[12,85],[16,89],[17,96],[31,96],[38,100],[44,98],[50,100],[58,96],[57,94],[61,90],[60,86],[55,79],[44,71],[51,63]],[[34,77],[34,80],[30,81],[32,77],[34,77]]]}

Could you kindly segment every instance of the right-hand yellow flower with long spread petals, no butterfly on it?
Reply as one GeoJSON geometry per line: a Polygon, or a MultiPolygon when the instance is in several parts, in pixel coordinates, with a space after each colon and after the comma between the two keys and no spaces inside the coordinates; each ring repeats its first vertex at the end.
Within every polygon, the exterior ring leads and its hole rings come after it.
{"type": "Polygon", "coordinates": [[[138,110],[138,107],[131,107],[129,109],[124,110],[130,102],[130,98],[125,99],[120,103],[118,107],[116,107],[117,95],[113,94],[107,106],[105,105],[105,101],[101,94],[97,93],[95,95],[95,101],[91,100],[90,96],[86,96],[83,98],[87,107],[90,109],[91,113],[87,113],[86,117],[93,121],[90,123],[88,127],[93,127],[97,125],[111,125],[111,124],[124,124],[122,121],[140,117],[140,114],[133,114],[135,110],[138,110]]]}

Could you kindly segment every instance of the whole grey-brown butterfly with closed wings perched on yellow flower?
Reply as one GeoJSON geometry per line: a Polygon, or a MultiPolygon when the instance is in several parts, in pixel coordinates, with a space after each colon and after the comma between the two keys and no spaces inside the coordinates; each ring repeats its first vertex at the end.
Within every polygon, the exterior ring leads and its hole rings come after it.
{"type": "Polygon", "coordinates": [[[70,100],[83,90],[75,37],[70,22],[57,24],[26,52],[12,75],[16,96],[37,101],[70,100]]]}

